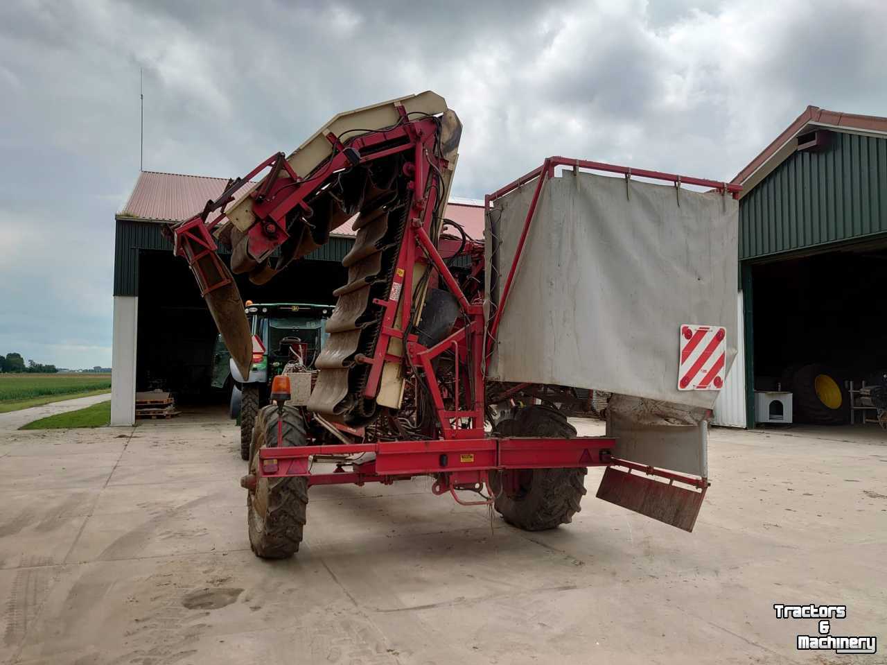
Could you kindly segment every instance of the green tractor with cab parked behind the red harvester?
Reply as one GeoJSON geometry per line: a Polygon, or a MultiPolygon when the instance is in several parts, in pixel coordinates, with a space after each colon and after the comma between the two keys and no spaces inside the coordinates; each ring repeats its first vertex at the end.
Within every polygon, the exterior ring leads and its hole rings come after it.
{"type": "Polygon", "coordinates": [[[313,368],[326,341],[326,320],[333,305],[305,303],[253,303],[247,300],[247,319],[253,334],[253,357],[249,376],[244,378],[222,336],[216,338],[212,385],[223,388],[232,379],[229,415],[240,424],[240,457],[249,459],[249,443],[259,409],[267,405],[271,381],[295,363],[313,368]]]}

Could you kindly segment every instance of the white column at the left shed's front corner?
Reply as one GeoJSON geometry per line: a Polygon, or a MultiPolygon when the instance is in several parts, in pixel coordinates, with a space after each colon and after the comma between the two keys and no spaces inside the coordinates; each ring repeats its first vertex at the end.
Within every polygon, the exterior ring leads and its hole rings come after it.
{"type": "Polygon", "coordinates": [[[111,349],[111,424],[136,423],[136,331],[138,297],[114,296],[111,349]]]}

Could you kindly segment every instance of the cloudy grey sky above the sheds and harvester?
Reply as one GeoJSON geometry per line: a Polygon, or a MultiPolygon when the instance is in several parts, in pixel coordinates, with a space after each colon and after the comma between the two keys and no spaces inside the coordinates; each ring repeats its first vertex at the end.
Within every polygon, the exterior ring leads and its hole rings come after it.
{"type": "Polygon", "coordinates": [[[883,0],[0,3],[0,352],[111,362],[114,212],[337,111],[442,94],[453,194],[565,154],[732,178],[808,104],[887,115],[883,0]]]}

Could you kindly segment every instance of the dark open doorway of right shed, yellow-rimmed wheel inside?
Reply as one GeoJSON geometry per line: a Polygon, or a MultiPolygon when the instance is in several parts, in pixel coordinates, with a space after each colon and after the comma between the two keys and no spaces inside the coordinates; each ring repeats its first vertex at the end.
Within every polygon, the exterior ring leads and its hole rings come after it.
{"type": "Polygon", "coordinates": [[[791,392],[797,424],[876,418],[852,409],[850,390],[887,384],[887,240],[754,265],[752,276],[755,390],[791,392]]]}

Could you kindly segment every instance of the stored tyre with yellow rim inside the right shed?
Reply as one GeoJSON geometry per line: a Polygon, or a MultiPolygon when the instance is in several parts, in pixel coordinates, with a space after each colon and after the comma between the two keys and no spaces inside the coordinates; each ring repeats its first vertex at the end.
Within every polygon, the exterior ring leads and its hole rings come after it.
{"type": "Polygon", "coordinates": [[[845,424],[850,420],[850,395],[844,380],[824,365],[813,363],[795,372],[791,382],[794,416],[803,423],[845,424]]]}

